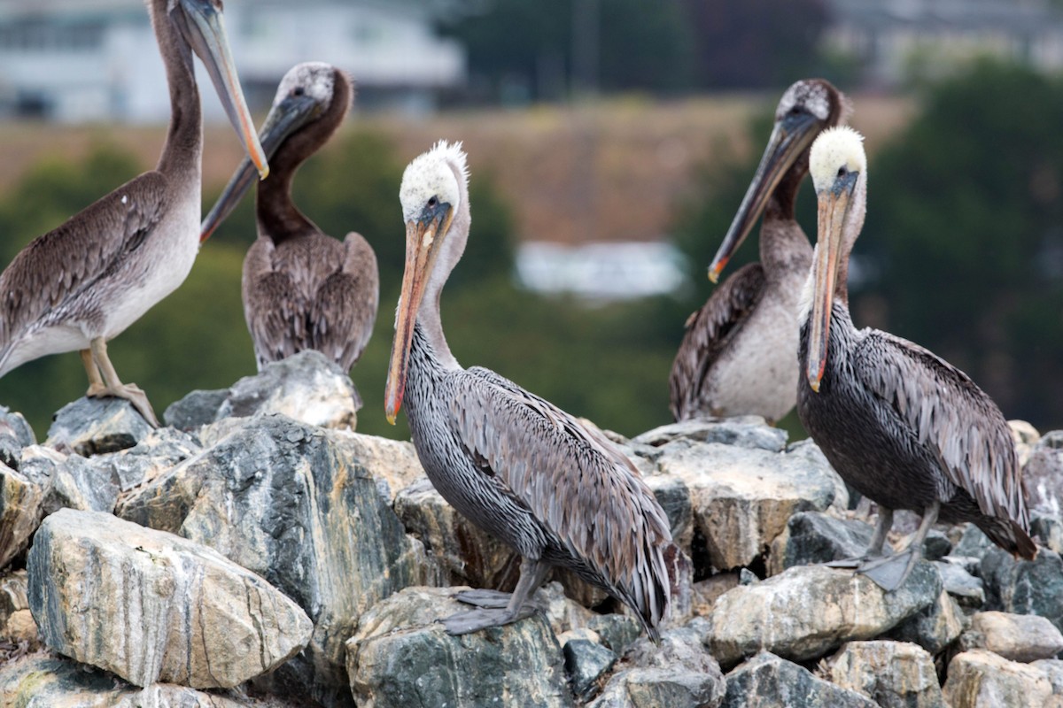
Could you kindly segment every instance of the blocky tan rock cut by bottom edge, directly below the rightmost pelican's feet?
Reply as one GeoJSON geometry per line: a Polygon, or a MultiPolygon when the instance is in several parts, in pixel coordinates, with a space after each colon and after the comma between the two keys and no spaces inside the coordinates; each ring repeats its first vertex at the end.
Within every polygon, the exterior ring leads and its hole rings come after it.
{"type": "Polygon", "coordinates": [[[933,657],[899,641],[853,641],[827,661],[833,684],[882,708],[945,708],[933,657]]]}

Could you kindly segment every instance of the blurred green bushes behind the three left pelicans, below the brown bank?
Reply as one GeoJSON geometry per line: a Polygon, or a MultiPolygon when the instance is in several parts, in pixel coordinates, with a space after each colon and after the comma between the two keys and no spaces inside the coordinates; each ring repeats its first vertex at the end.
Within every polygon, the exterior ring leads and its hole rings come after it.
{"type": "MultiPolygon", "coordinates": [[[[48,161],[30,171],[0,198],[9,235],[5,258],[84,208],[104,185],[118,185],[146,167],[103,145],[83,162],[48,161]]],[[[307,161],[293,194],[325,232],[342,237],[358,230],[376,249],[381,309],[373,338],[352,370],[365,401],[358,430],[401,438],[408,437],[405,416],[391,427],[383,412],[405,257],[398,200],[402,170],[385,138],[348,132],[307,161]]],[[[204,208],[222,187],[207,186],[204,208]]],[[[472,232],[442,297],[455,356],[628,434],[667,421],[668,369],[685,313],[664,299],[587,308],[518,291],[509,209],[487,174],[473,175],[470,192],[472,232]],[[662,308],[672,310],[667,317],[660,315],[662,308]]],[[[195,388],[224,387],[254,373],[240,303],[243,253],[254,238],[253,200],[246,197],[203,244],[185,283],[112,343],[119,375],[148,392],[156,413],[195,388]]],[[[45,357],[0,379],[0,402],[23,412],[44,437],[52,413],[86,387],[77,353],[45,357]]]]}

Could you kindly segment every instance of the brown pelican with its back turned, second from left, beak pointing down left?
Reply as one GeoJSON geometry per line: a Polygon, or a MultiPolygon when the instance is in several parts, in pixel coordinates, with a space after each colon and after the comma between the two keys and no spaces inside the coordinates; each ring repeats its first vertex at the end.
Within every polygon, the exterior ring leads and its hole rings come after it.
{"type": "MultiPolygon", "coordinates": [[[[376,321],[376,255],[359,234],[325,236],[291,201],[291,179],[336,132],[351,106],[351,81],[319,62],[293,67],[258,132],[272,172],[258,183],[258,239],[243,259],[243,314],[258,368],[317,349],[350,370],[376,321]]],[[[250,160],[236,171],[203,221],[202,238],[251,186],[250,160]]]]}

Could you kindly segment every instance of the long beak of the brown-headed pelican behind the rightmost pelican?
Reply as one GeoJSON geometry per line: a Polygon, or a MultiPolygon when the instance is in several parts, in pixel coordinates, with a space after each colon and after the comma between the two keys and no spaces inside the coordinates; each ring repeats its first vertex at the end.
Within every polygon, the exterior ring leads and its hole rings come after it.
{"type": "Polygon", "coordinates": [[[760,219],[760,214],[764,212],[767,198],[775,191],[782,175],[812,144],[812,140],[819,134],[819,126],[820,122],[815,117],[805,113],[787,116],[775,124],[742,205],[709,266],[709,280],[716,282],[720,279],[724,266],[753,230],[753,225],[760,219]]]}

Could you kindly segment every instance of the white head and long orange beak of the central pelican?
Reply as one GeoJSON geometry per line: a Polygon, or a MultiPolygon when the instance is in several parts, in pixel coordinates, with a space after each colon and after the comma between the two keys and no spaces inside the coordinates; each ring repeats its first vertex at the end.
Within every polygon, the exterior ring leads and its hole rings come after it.
{"type": "Polygon", "coordinates": [[[415,158],[402,176],[399,201],[406,222],[406,267],[395,311],[395,338],[384,400],[385,413],[392,424],[402,408],[414,325],[425,287],[434,281],[441,288],[442,280],[465,251],[468,222],[465,221],[463,228],[452,227],[456,214],[468,214],[469,205],[465,203],[468,202],[468,179],[461,143],[442,140],[415,158]],[[443,266],[437,270],[440,253],[446,255],[443,266]]]}

